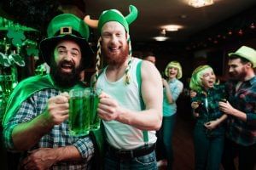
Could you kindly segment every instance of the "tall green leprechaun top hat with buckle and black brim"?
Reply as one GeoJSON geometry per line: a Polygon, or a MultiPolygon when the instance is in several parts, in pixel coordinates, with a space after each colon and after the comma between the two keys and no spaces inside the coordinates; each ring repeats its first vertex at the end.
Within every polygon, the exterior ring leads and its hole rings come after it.
{"type": "Polygon", "coordinates": [[[50,65],[53,50],[61,40],[73,40],[81,48],[84,65],[89,65],[93,51],[88,43],[90,32],[83,20],[73,14],[55,16],[47,28],[47,38],[40,42],[40,51],[44,61],[50,65]]]}

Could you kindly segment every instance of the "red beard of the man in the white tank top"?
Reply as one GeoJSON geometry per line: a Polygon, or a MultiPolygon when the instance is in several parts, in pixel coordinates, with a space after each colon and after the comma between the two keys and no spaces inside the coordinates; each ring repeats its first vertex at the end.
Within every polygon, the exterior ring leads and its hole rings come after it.
{"type": "Polygon", "coordinates": [[[123,65],[125,63],[125,60],[127,59],[129,54],[129,48],[128,45],[125,47],[124,50],[120,51],[119,56],[112,55],[108,52],[108,50],[102,48],[102,55],[104,59],[106,59],[106,62],[108,65],[123,65]]]}

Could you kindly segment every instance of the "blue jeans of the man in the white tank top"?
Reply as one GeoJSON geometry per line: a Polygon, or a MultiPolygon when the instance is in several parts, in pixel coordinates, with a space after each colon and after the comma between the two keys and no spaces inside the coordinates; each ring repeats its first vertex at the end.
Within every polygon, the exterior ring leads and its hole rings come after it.
{"type": "Polygon", "coordinates": [[[109,151],[105,156],[105,170],[157,170],[155,152],[131,159],[119,159],[109,151]]]}

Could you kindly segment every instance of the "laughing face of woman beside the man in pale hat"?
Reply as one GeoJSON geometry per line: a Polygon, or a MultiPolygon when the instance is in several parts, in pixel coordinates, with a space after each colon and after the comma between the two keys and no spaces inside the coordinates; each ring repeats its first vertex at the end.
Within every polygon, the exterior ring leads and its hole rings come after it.
{"type": "Polygon", "coordinates": [[[205,89],[213,88],[216,77],[211,68],[201,72],[201,84],[205,89]]]}

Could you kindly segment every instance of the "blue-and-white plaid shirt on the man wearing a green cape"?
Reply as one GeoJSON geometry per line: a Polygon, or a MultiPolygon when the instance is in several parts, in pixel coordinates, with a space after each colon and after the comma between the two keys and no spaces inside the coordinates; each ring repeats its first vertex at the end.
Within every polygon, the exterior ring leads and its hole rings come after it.
{"type": "MultiPolygon", "coordinates": [[[[4,127],[3,137],[4,142],[10,150],[14,150],[14,143],[12,141],[12,131],[14,127],[22,122],[29,122],[36,116],[40,115],[50,97],[60,94],[60,91],[55,89],[44,89],[39,91],[20,105],[18,112],[11,118],[9,123],[4,127]]],[[[50,169],[90,169],[89,161],[94,155],[94,146],[89,136],[75,137],[69,134],[68,122],[65,121],[60,125],[55,125],[53,129],[45,134],[38,142],[37,146],[32,148],[57,148],[67,145],[74,145],[84,161],[62,161],[57,162],[50,169]]]]}

